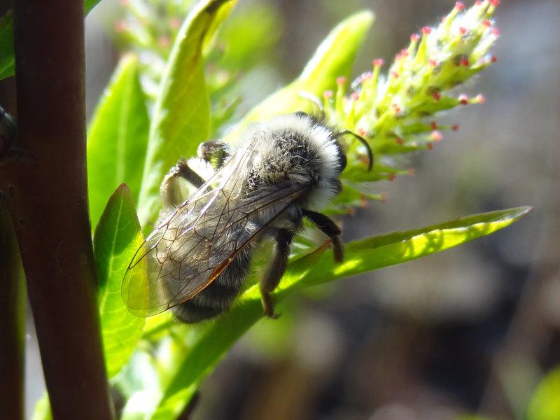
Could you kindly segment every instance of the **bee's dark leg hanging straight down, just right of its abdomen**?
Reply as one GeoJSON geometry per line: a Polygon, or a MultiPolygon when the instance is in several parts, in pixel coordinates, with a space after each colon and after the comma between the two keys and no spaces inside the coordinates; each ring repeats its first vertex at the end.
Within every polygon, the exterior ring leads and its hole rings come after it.
{"type": "Polygon", "coordinates": [[[262,299],[262,309],[269,318],[278,318],[274,314],[274,303],[270,293],[274,291],[288,265],[288,256],[290,255],[290,244],[292,243],[293,233],[286,229],[280,229],[276,235],[276,244],[274,244],[274,258],[268,266],[265,276],[260,280],[260,295],[262,299]]]}

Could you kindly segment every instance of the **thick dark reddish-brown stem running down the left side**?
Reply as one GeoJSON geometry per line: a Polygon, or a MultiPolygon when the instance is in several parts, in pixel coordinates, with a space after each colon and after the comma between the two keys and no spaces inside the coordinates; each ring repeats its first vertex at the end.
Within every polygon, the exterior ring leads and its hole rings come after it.
{"type": "Polygon", "coordinates": [[[111,419],[87,214],[83,3],[14,1],[21,155],[0,182],[55,419],[111,419]]]}

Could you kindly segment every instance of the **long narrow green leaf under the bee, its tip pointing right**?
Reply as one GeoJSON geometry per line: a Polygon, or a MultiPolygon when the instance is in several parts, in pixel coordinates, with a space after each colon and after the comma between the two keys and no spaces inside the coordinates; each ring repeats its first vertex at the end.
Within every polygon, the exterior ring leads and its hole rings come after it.
{"type": "MultiPolygon", "coordinates": [[[[346,257],[338,265],[333,262],[332,251],[326,250],[325,244],[290,262],[276,289],[276,300],[281,300],[295,288],[388,267],[489,235],[518,221],[530,210],[529,207],[519,207],[493,211],[427,228],[353,241],[346,244],[346,257]]],[[[258,285],[255,285],[239,298],[235,307],[216,321],[193,325],[189,331],[189,348],[153,418],[173,418],[180,412],[200,381],[213,370],[229,347],[260,318],[262,307],[258,285]]]]}

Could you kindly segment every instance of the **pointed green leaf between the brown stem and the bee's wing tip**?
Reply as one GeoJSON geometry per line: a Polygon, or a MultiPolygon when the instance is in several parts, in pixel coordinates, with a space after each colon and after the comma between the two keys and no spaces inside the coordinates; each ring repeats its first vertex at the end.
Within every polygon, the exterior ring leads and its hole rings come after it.
{"type": "Polygon", "coordinates": [[[99,316],[109,377],[118,373],[130,358],[144,328],[144,318],[130,314],[120,297],[127,267],[143,241],[130,190],[121,184],[111,195],[93,237],[99,316]]]}

